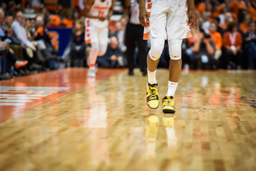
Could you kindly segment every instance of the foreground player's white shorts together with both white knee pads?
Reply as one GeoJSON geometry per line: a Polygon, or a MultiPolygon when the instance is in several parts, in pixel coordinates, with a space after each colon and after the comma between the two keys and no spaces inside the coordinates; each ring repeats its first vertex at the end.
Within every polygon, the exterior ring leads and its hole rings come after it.
{"type": "Polygon", "coordinates": [[[150,23],[144,30],[144,39],[150,39],[150,58],[157,60],[168,39],[170,58],[181,58],[183,38],[190,38],[186,0],[146,0],[150,23]]]}

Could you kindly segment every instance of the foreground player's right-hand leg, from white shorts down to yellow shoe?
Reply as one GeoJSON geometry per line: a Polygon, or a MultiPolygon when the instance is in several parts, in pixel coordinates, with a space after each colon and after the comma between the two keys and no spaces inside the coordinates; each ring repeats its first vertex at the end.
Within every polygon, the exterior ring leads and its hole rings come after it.
{"type": "Polygon", "coordinates": [[[176,111],[174,108],[174,93],[182,71],[182,39],[190,34],[187,23],[186,5],[184,3],[170,8],[166,25],[170,54],[170,75],[166,97],[162,99],[162,111],[164,113],[175,113],[176,111]]]}

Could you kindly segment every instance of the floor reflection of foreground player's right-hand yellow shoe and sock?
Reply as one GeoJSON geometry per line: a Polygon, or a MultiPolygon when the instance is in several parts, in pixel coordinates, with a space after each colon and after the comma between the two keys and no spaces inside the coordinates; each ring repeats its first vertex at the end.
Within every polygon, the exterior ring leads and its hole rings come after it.
{"type": "Polygon", "coordinates": [[[174,131],[174,114],[162,114],[162,123],[166,127],[168,148],[174,148],[177,145],[177,137],[174,131]]]}

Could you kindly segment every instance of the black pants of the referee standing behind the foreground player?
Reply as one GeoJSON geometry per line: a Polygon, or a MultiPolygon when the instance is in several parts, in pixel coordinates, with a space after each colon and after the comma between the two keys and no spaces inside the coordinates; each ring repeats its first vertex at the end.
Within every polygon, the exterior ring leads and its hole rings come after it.
{"type": "Polygon", "coordinates": [[[129,70],[134,70],[134,51],[137,43],[138,46],[138,62],[141,70],[146,70],[147,42],[143,40],[142,25],[127,24],[126,27],[126,54],[129,70]]]}

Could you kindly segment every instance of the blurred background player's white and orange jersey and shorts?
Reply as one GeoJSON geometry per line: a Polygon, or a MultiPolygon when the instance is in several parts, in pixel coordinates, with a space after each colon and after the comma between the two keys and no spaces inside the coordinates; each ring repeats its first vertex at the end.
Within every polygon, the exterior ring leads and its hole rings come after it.
{"type": "MultiPolygon", "coordinates": [[[[95,0],[90,9],[90,14],[98,17],[106,17],[109,14],[111,0],[95,0]]],[[[92,48],[98,50],[98,56],[105,54],[108,40],[108,21],[99,19],[86,18],[86,35],[85,42],[90,43],[92,48]]],[[[96,59],[95,59],[96,60],[96,59]]]]}

